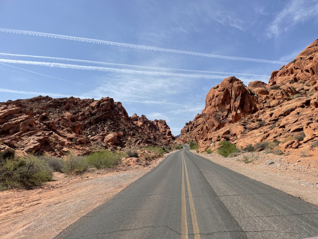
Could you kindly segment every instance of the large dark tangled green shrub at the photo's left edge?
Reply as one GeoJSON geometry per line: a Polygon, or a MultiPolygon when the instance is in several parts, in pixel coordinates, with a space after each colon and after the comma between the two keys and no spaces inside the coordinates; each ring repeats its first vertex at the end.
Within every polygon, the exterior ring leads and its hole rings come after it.
{"type": "Polygon", "coordinates": [[[48,163],[35,156],[0,158],[0,190],[31,188],[52,180],[48,163]]]}

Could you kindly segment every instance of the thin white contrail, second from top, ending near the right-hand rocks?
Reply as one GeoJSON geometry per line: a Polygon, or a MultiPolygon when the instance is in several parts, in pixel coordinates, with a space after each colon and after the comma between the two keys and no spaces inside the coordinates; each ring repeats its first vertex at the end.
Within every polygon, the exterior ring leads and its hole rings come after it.
{"type": "Polygon", "coordinates": [[[154,70],[170,70],[170,71],[171,70],[175,70],[175,71],[185,71],[185,72],[200,72],[200,73],[212,73],[212,74],[232,74],[232,75],[243,75],[243,76],[264,76],[264,77],[269,77],[269,76],[266,76],[266,75],[257,75],[257,74],[248,74],[248,73],[233,73],[233,72],[221,72],[221,71],[189,70],[189,69],[177,69],[177,68],[138,66],[138,65],[128,65],[128,64],[110,63],[110,62],[97,62],[97,61],[89,61],[89,60],[78,60],[78,59],[70,59],[70,58],[63,58],[63,57],[52,57],[52,56],[23,55],[23,54],[11,54],[11,53],[0,53],[0,55],[18,56],[18,57],[32,57],[32,58],[50,59],[50,60],[57,60],[57,61],[84,62],[84,63],[99,64],[99,65],[114,65],[114,66],[137,67],[137,68],[154,69],[154,70]]]}

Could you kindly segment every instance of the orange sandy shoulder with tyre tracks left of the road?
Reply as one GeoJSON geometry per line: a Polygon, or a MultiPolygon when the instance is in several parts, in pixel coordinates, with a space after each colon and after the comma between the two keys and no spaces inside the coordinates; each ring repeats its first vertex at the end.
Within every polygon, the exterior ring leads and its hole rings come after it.
{"type": "Polygon", "coordinates": [[[0,238],[53,238],[163,159],[156,159],[147,167],[120,166],[78,176],[66,177],[56,172],[55,181],[37,189],[0,192],[0,238]]]}

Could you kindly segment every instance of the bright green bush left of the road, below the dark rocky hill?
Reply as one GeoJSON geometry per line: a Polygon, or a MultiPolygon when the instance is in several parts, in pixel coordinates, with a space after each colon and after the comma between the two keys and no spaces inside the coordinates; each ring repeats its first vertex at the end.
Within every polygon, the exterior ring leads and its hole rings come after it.
{"type": "Polygon", "coordinates": [[[86,162],[96,167],[97,169],[106,169],[118,165],[121,162],[122,154],[118,152],[111,152],[109,150],[101,150],[83,157],[81,162],[82,169],[85,170],[86,162]]]}

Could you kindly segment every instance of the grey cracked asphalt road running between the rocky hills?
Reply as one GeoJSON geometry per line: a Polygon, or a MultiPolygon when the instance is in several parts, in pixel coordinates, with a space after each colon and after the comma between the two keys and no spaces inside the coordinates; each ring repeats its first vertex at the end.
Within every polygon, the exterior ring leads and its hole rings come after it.
{"type": "Polygon", "coordinates": [[[56,238],[298,239],[318,235],[316,206],[184,147],[56,238]]]}

